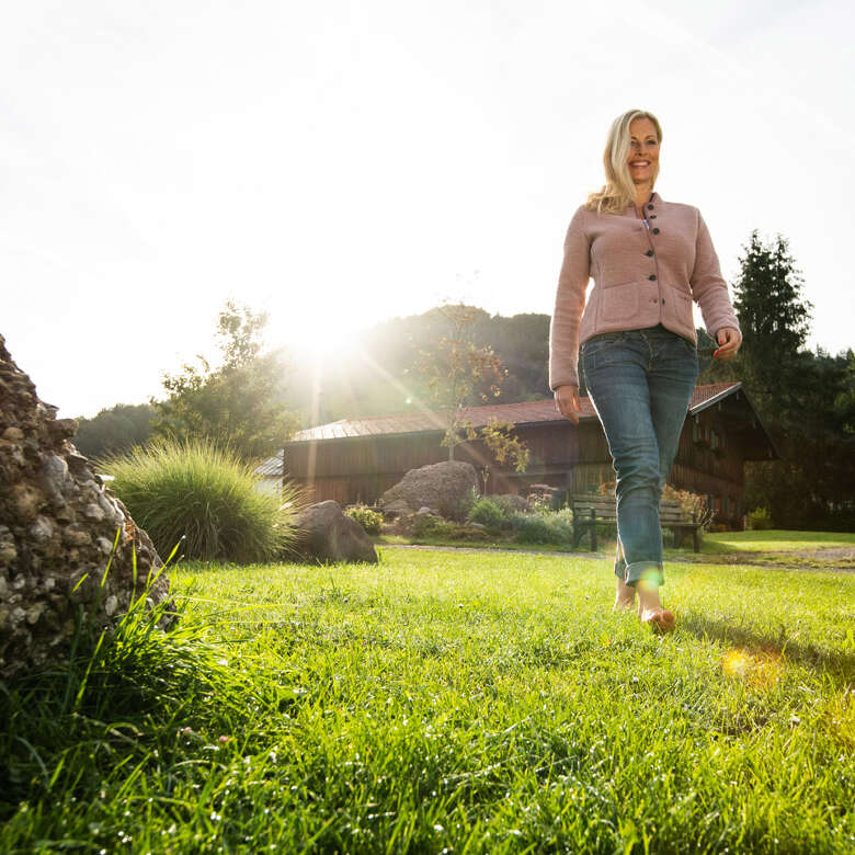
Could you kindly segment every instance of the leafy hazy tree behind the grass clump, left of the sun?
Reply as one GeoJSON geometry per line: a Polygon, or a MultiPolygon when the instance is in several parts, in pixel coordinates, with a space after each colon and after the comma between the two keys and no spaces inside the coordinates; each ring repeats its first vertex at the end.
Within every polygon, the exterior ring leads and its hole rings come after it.
{"type": "Polygon", "coordinates": [[[287,368],[280,352],[264,353],[266,312],[253,312],[229,300],[216,330],[221,364],[197,364],[180,374],[164,374],[169,392],[152,401],[158,411],[155,434],[176,440],[207,437],[228,444],[244,459],[273,454],[294,431],[296,420],[285,403],[287,368]]]}

